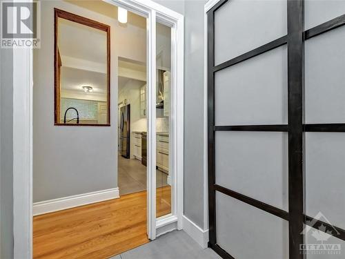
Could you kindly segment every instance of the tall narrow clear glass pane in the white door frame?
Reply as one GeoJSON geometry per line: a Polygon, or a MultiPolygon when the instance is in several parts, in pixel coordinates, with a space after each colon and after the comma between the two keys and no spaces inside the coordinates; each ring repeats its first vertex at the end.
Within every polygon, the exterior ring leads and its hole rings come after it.
{"type": "Polygon", "coordinates": [[[172,135],[170,134],[171,99],[171,28],[156,23],[156,217],[174,213],[172,190],[172,135]]]}

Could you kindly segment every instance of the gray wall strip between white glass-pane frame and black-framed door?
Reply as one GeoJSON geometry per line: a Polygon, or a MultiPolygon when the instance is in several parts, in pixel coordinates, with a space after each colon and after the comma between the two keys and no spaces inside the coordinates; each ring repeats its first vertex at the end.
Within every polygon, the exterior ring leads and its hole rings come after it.
{"type": "Polygon", "coordinates": [[[184,15],[184,214],[204,227],[204,5],[155,0],[184,15]]]}

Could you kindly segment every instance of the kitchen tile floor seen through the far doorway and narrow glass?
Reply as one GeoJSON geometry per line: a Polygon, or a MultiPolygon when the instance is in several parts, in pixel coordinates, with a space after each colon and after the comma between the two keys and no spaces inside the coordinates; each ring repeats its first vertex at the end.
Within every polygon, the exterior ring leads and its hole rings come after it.
{"type": "MultiPolygon", "coordinates": [[[[118,156],[118,184],[120,195],[146,190],[146,166],[136,159],[118,156]]],[[[157,170],[157,188],[167,185],[167,174],[157,170]]]]}

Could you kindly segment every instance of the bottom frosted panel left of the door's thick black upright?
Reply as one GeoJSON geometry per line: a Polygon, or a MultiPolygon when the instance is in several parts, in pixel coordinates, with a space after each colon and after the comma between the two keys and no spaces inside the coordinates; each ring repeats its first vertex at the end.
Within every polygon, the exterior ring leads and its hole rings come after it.
{"type": "Polygon", "coordinates": [[[217,243],[237,259],[288,259],[288,222],[216,193],[217,243]]]}

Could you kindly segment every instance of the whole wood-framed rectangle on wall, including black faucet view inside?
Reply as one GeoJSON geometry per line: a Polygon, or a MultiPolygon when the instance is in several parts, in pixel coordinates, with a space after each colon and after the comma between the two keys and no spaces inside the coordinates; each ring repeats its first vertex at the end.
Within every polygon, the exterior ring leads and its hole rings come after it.
{"type": "Polygon", "coordinates": [[[110,126],[110,26],[55,8],[55,125],[110,126]]]}

